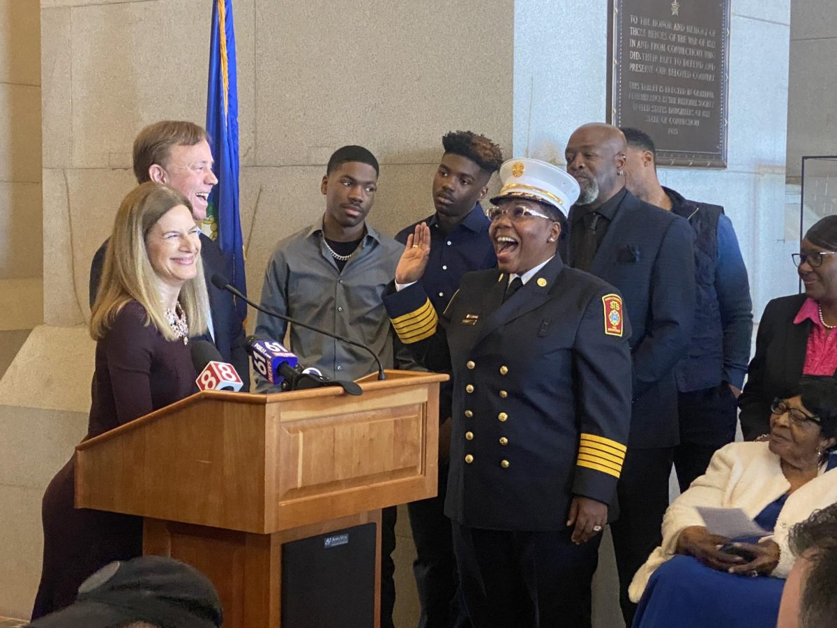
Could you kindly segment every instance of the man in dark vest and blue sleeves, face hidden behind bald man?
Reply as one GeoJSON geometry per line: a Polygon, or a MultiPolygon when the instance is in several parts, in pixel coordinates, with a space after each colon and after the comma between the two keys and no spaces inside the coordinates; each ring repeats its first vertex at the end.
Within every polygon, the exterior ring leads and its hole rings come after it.
{"type": "Polygon", "coordinates": [[[674,462],[680,491],[703,475],[716,450],[735,439],[752,335],[747,268],[724,208],[697,203],[660,185],[654,142],[624,128],[627,186],[646,203],[682,216],[695,231],[695,330],[689,353],[675,368],[680,445],[674,462]]]}

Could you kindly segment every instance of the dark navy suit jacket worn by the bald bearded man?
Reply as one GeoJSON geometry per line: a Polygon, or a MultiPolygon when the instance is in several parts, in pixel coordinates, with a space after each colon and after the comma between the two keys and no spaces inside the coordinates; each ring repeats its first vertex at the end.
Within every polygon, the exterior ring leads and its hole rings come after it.
{"type": "MultiPolygon", "coordinates": [[[[561,251],[572,266],[568,239],[562,239],[561,251]]],[[[686,219],[628,192],[590,265],[590,273],[624,296],[633,330],[631,447],[673,447],[680,441],[674,368],[688,352],[694,325],[693,241],[686,219]]]]}

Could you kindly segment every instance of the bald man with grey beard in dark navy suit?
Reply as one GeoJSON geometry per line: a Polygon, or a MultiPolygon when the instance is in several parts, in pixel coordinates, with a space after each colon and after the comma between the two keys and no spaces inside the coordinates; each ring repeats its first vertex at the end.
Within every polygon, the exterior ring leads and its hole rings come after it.
{"type": "Polygon", "coordinates": [[[567,172],[581,194],[562,241],[567,265],[619,289],[633,332],[634,399],[628,453],[611,525],[619,603],[627,625],[635,606],[628,585],[660,542],[677,421],[675,364],[686,355],[694,322],[693,234],[686,219],[640,201],[625,188],[627,145],[607,124],[579,127],[567,142],[567,172]]]}

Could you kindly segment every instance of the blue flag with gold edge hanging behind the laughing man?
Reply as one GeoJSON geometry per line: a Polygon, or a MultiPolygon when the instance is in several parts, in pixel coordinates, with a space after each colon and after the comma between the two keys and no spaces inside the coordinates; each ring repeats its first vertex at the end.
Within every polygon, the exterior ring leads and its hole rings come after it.
{"type": "MultiPolygon", "coordinates": [[[[227,258],[229,281],[247,294],[244,239],[239,217],[239,93],[235,73],[233,0],[213,1],[207,132],[213,144],[215,176],[218,177],[218,184],[209,195],[208,214],[218,224],[218,247],[227,258]]],[[[236,299],[235,305],[244,320],[247,304],[236,299]]]]}

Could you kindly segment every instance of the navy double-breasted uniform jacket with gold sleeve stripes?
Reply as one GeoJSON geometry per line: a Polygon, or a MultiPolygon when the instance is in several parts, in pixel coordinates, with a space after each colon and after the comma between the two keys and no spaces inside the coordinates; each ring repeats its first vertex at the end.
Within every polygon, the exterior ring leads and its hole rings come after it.
{"type": "Polygon", "coordinates": [[[507,282],[496,269],[468,273],[440,320],[419,283],[384,303],[419,362],[453,373],[445,514],[474,528],[562,530],[573,495],[614,497],[629,322],[613,287],[557,255],[503,302],[507,282]]]}

